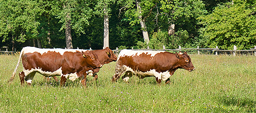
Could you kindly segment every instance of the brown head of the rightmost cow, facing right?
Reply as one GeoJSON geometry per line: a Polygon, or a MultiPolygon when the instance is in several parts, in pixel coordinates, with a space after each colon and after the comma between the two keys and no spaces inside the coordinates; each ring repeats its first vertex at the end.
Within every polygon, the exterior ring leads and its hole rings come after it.
{"type": "Polygon", "coordinates": [[[191,58],[188,56],[187,52],[179,52],[179,54],[176,53],[176,57],[179,59],[178,64],[180,68],[187,69],[190,72],[195,70],[195,67],[193,66],[191,58]]]}

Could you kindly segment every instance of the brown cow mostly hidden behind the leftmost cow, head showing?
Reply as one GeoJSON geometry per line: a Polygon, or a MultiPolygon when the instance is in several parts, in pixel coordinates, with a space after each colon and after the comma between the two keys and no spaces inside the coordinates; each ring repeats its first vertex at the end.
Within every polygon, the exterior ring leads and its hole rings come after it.
{"type": "MultiPolygon", "coordinates": [[[[93,52],[98,56],[98,60],[100,60],[101,65],[103,66],[104,64],[108,64],[110,62],[115,62],[117,61],[117,56],[113,53],[109,47],[106,47],[105,49],[102,50],[93,50],[93,52]]],[[[93,70],[88,71],[89,76],[93,76],[94,80],[98,79],[97,72],[100,71],[100,68],[94,68],[93,70]]],[[[57,77],[53,77],[56,81],[57,77]]]]}

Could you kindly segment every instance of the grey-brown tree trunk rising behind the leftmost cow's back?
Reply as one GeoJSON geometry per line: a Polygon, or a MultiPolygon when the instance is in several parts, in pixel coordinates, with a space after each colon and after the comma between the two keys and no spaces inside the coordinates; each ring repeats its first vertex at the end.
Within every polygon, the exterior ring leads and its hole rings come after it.
{"type": "MultiPolygon", "coordinates": [[[[63,6],[65,8],[69,8],[67,6],[63,6]]],[[[67,49],[73,49],[72,45],[72,37],[71,37],[71,15],[69,12],[67,12],[66,15],[66,25],[65,25],[65,38],[66,38],[66,47],[67,49]]]]}

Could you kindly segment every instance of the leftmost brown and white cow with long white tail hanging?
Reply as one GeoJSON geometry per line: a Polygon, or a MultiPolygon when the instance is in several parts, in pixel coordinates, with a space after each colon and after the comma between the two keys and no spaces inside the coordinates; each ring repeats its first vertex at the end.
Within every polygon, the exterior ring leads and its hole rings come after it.
{"type": "Polygon", "coordinates": [[[32,79],[38,72],[45,77],[61,76],[61,86],[65,85],[67,79],[74,81],[77,78],[86,86],[88,71],[102,66],[97,55],[89,50],[23,47],[9,82],[14,80],[21,58],[23,71],[19,73],[19,77],[22,85],[24,80],[27,84],[32,84],[32,79]]]}

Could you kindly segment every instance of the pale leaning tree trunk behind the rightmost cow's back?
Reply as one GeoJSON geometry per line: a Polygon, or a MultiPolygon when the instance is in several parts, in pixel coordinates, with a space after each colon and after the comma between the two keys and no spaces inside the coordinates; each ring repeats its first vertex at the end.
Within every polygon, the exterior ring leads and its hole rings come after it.
{"type": "Polygon", "coordinates": [[[146,27],[146,23],[145,23],[145,20],[142,19],[142,15],[141,15],[141,6],[139,5],[139,2],[136,0],[136,6],[137,6],[137,10],[139,12],[139,23],[141,23],[141,28],[142,28],[142,34],[143,34],[143,39],[144,39],[144,42],[148,42],[150,41],[149,40],[149,37],[148,37],[148,32],[147,32],[147,27],[146,27]]]}

